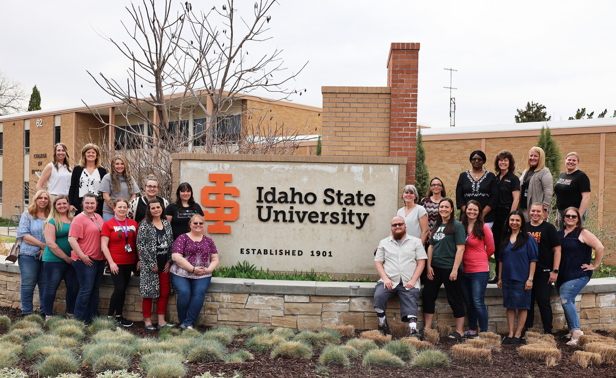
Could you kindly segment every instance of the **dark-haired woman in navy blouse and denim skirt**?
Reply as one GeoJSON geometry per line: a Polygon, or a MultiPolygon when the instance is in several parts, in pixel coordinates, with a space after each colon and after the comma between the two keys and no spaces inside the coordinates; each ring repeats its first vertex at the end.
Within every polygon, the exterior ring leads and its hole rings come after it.
{"type": "Polygon", "coordinates": [[[498,259],[500,276],[498,288],[503,290],[503,307],[507,308],[509,334],[503,344],[521,344],[522,329],[530,308],[530,289],[533,288],[535,264],[539,254],[535,238],[526,231],[524,213],[515,210],[509,213],[503,228],[501,254],[498,259]],[[517,310],[517,328],[514,332],[517,310]]]}

